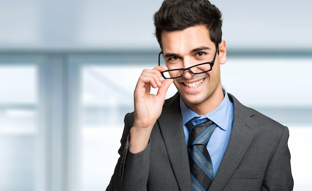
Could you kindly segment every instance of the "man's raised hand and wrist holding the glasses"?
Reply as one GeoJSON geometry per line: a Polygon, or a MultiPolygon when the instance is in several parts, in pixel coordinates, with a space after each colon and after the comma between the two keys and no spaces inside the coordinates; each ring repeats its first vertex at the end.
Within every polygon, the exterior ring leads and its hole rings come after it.
{"type": "Polygon", "coordinates": [[[165,94],[173,82],[172,79],[164,80],[160,72],[166,67],[156,66],[153,70],[145,69],[134,92],[135,118],[130,130],[129,145],[131,152],[138,153],[146,148],[156,120],[161,114],[165,94]],[[157,94],[151,94],[151,87],[158,88],[157,94]]]}

